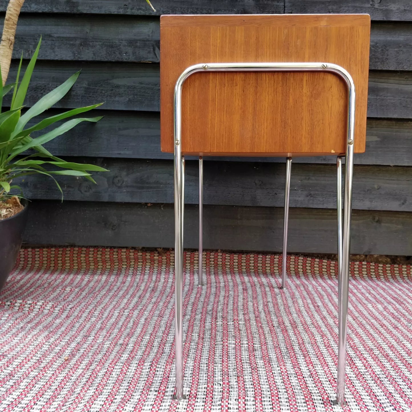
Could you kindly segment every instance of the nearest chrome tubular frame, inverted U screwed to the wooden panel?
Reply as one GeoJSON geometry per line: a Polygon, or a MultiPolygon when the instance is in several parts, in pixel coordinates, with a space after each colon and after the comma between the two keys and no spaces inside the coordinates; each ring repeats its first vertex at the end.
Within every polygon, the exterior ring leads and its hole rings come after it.
{"type": "MultiPolygon", "coordinates": [[[[321,72],[334,73],[348,87],[348,118],[346,168],[344,182],[344,212],[342,225],[342,269],[339,270],[339,338],[337,365],[337,405],[345,404],[346,330],[349,294],[349,244],[353,180],[353,140],[355,126],[355,86],[351,75],[333,63],[200,63],[188,67],[178,78],[174,91],[174,188],[175,188],[175,349],[176,399],[183,398],[183,206],[184,178],[182,163],[182,87],[185,80],[198,72],[321,72]]],[[[200,246],[200,245],[199,245],[200,246]]]]}

